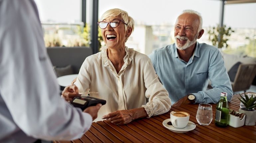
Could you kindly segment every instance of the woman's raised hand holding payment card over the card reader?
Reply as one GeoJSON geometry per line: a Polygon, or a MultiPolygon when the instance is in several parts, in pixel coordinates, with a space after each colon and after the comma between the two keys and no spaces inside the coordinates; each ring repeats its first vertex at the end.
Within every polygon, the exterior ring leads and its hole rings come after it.
{"type": "Polygon", "coordinates": [[[74,97],[81,96],[78,92],[79,90],[75,85],[69,85],[62,91],[62,97],[64,97],[66,101],[72,101],[74,97]]]}

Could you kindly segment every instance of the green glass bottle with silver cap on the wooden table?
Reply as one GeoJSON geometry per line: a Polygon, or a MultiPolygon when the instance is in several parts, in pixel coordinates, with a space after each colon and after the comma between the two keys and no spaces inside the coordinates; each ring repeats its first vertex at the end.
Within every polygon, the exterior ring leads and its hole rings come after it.
{"type": "Polygon", "coordinates": [[[220,99],[216,105],[216,114],[215,114],[215,125],[218,127],[226,127],[228,124],[228,102],[227,102],[227,93],[221,92],[220,99]]]}

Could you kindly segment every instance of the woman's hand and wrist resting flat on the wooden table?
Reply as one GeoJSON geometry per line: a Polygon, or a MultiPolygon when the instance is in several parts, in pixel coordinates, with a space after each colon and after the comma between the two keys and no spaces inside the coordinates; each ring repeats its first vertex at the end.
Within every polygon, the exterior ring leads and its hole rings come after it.
{"type": "Polygon", "coordinates": [[[118,110],[107,115],[102,119],[106,119],[113,124],[123,125],[132,122],[135,119],[147,117],[148,114],[144,108],[136,108],[131,110],[118,110]]]}

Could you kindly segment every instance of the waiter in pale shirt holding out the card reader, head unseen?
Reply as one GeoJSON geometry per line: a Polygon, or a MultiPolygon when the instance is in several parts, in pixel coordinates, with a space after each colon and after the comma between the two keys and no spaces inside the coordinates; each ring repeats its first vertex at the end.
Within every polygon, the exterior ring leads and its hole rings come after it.
{"type": "Polygon", "coordinates": [[[77,139],[100,106],[82,111],[59,96],[35,2],[0,0],[0,142],[77,139]]]}

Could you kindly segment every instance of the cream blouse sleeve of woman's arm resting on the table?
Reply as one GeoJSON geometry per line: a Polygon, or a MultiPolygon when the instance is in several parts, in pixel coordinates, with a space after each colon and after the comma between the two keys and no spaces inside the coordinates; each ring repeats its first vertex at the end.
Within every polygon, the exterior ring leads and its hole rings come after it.
{"type": "Polygon", "coordinates": [[[171,109],[171,99],[168,91],[159,82],[158,76],[150,60],[144,66],[144,82],[146,87],[145,96],[149,98],[149,102],[144,107],[148,118],[168,112],[171,109]]]}

